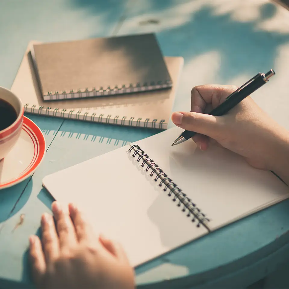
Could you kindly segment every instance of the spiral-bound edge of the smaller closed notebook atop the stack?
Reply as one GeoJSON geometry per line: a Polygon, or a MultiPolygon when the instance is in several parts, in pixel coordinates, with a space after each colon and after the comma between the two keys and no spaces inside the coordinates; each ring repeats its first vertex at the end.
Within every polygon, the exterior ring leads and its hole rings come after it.
{"type": "Polygon", "coordinates": [[[146,92],[158,89],[167,89],[172,87],[172,81],[151,81],[150,83],[145,82],[142,85],[138,82],[136,84],[130,83],[129,85],[115,85],[114,87],[98,87],[98,88],[85,88],[69,91],[54,91],[46,92],[43,94],[44,100],[61,100],[61,99],[70,99],[70,98],[86,98],[86,97],[95,97],[95,96],[104,96],[104,95],[118,95],[126,93],[135,93],[135,92],[146,92]]]}

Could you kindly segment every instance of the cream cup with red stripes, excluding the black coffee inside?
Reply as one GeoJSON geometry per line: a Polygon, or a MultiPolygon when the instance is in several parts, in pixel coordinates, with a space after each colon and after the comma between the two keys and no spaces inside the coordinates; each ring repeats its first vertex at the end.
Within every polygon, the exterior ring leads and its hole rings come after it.
{"type": "Polygon", "coordinates": [[[24,107],[19,97],[9,89],[0,86],[0,101],[4,100],[16,111],[16,120],[7,128],[0,130],[0,160],[2,160],[16,144],[20,137],[24,107]]]}

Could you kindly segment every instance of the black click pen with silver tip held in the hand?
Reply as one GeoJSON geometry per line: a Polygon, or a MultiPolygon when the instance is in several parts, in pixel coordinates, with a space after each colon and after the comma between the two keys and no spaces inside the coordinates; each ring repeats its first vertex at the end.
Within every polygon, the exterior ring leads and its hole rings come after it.
{"type": "MultiPolygon", "coordinates": [[[[266,74],[258,73],[241,87],[239,87],[236,91],[231,93],[226,100],[221,103],[218,107],[214,108],[210,113],[213,116],[220,116],[227,113],[233,107],[235,107],[239,102],[241,102],[244,98],[249,96],[255,90],[260,88],[266,82],[269,81],[271,76],[275,75],[275,71],[273,69],[269,70],[266,74]],[[234,96],[234,97],[232,97],[234,96]]],[[[196,132],[191,132],[189,130],[185,130],[179,137],[174,141],[173,145],[181,144],[184,141],[187,141],[191,137],[193,137],[196,132]]]]}

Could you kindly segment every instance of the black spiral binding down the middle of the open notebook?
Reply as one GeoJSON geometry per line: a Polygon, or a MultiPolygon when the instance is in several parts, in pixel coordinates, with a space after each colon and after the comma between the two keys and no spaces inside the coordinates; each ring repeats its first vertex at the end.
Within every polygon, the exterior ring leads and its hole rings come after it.
{"type": "Polygon", "coordinates": [[[155,163],[154,160],[148,156],[148,154],[146,154],[137,144],[132,145],[128,151],[129,153],[134,151],[132,157],[135,158],[138,163],[142,161],[141,166],[146,166],[146,172],[151,169],[150,176],[153,177],[155,175],[154,181],[160,181],[158,186],[162,187],[162,185],[165,185],[163,191],[166,192],[169,190],[168,196],[173,196],[173,202],[178,200],[177,206],[182,207],[182,212],[186,213],[187,217],[193,216],[192,222],[198,221],[197,227],[200,227],[202,224],[207,229],[209,229],[206,225],[206,222],[210,222],[210,220],[205,216],[204,213],[202,213],[200,208],[198,208],[197,205],[187,197],[182,189],[179,188],[176,183],[174,183],[172,179],[169,178],[169,176],[167,176],[167,174],[157,165],[157,163],[155,163]]]}

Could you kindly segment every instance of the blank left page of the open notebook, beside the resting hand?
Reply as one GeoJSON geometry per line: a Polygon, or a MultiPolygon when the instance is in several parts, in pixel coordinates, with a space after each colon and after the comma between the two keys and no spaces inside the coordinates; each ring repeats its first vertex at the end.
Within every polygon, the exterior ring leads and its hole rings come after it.
{"type": "Polygon", "coordinates": [[[132,266],[207,234],[176,207],[128,156],[129,146],[46,176],[43,185],[62,204],[85,212],[96,233],[119,241],[132,266]]]}

